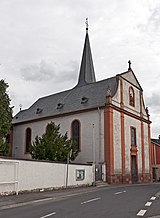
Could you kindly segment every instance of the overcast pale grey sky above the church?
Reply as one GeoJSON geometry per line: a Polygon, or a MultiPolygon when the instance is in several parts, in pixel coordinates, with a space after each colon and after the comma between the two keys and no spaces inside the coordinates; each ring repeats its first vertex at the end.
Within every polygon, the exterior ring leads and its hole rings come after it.
{"type": "Polygon", "coordinates": [[[0,0],[0,79],[14,114],[76,85],[86,17],[97,80],[126,71],[130,59],[158,137],[159,0],[0,0]]]}

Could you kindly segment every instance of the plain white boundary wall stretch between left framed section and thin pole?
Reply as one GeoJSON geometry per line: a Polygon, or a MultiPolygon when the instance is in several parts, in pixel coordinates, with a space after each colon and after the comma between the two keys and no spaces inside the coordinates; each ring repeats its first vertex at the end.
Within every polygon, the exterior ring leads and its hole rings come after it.
{"type": "Polygon", "coordinates": [[[65,164],[21,161],[18,190],[64,186],[65,169],[65,164]]]}

